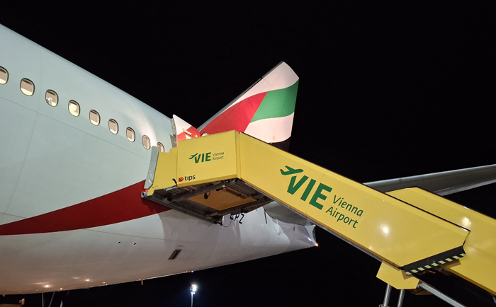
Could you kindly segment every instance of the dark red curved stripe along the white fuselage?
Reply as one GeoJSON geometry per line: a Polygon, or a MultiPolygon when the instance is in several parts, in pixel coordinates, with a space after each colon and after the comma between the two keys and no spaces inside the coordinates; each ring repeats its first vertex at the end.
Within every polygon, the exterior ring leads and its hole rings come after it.
{"type": "Polygon", "coordinates": [[[80,204],[0,225],[0,236],[51,233],[105,226],[169,210],[141,198],[145,182],[80,204]]]}

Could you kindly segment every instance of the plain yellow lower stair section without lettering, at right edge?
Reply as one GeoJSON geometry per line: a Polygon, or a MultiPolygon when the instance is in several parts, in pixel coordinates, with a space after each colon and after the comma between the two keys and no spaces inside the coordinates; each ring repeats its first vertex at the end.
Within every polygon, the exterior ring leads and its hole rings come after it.
{"type": "Polygon", "coordinates": [[[419,188],[388,194],[470,230],[463,245],[466,254],[458,255],[460,259],[446,263],[444,268],[496,295],[496,274],[490,273],[496,265],[495,219],[419,188]]]}

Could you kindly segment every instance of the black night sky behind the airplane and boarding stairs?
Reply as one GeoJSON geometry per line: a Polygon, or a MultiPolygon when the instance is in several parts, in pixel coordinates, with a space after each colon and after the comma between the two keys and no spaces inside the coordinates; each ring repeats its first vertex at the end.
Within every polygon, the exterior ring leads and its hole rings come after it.
{"type": "MultiPolygon", "coordinates": [[[[196,127],[284,61],[300,77],[289,151],[367,182],[496,163],[489,4],[40,1],[2,4],[0,23],[196,127]]],[[[450,198],[496,216],[494,185],[450,198]]],[[[194,306],[382,303],[378,261],[320,229],[317,241],[144,286],[58,292],[52,306],[189,306],[192,282],[194,306]]],[[[407,294],[403,306],[448,305],[407,294]]]]}

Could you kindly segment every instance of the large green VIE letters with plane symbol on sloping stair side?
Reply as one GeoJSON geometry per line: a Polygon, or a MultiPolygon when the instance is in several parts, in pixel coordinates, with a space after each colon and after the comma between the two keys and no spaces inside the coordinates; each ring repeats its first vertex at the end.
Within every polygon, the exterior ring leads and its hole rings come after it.
{"type": "MultiPolygon", "coordinates": [[[[298,176],[295,174],[303,173],[303,170],[302,169],[295,170],[294,168],[290,168],[289,166],[286,166],[286,168],[287,168],[287,170],[281,169],[281,174],[283,176],[294,175],[293,177],[291,177],[291,181],[289,182],[288,193],[291,195],[294,195],[295,192],[300,190],[300,187],[303,187],[306,184],[306,186],[304,188],[305,190],[303,190],[303,194],[300,197],[301,200],[306,202],[308,199],[308,196],[310,196],[310,192],[312,192],[312,189],[315,186],[315,183],[317,183],[317,181],[315,181],[314,179],[308,180],[309,179],[308,176],[303,175],[303,177],[300,178],[300,180],[298,180],[298,182],[296,182],[298,176]]],[[[315,190],[315,192],[313,192],[312,197],[310,198],[310,202],[309,202],[309,204],[311,204],[313,207],[316,207],[317,209],[320,209],[320,210],[322,210],[322,207],[324,207],[324,206],[322,204],[320,204],[318,202],[318,200],[319,199],[322,199],[322,200],[327,199],[327,195],[322,194],[322,191],[331,192],[332,187],[328,187],[327,185],[325,185],[323,183],[319,183],[317,190],[315,190]]]]}

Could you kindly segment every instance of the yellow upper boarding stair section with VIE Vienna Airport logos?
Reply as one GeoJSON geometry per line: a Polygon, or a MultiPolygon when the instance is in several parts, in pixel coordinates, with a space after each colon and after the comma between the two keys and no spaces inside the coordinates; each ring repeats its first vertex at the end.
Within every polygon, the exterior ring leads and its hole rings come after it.
{"type": "MultiPolygon", "coordinates": [[[[157,156],[142,197],[218,224],[226,214],[280,202],[382,260],[378,277],[393,286],[399,278],[408,285],[398,287],[415,288],[412,274],[456,267],[466,256],[470,227],[425,211],[417,203],[439,202],[429,192],[378,192],[235,131],[181,141],[157,156]]],[[[480,284],[461,276],[496,294],[494,277],[480,284]]]]}

